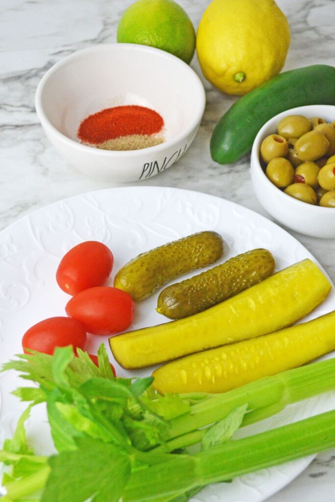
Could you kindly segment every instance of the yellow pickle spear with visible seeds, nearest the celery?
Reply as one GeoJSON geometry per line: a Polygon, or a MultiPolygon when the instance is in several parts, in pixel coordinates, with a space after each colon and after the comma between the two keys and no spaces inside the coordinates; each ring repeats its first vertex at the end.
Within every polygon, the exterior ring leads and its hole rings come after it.
{"type": "Polygon", "coordinates": [[[335,311],[251,340],[188,355],[153,372],[160,393],[221,393],[335,349],[335,311]]]}

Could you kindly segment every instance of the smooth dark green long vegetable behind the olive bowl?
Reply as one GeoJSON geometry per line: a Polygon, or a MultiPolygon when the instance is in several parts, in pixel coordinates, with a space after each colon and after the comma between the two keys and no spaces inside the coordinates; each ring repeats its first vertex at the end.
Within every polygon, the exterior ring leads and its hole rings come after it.
{"type": "Polygon", "coordinates": [[[313,65],[286,71],[241,97],[221,117],[210,155],[218,164],[236,162],[250,152],[258,131],[282,111],[308,104],[335,105],[335,68],[313,65]]]}

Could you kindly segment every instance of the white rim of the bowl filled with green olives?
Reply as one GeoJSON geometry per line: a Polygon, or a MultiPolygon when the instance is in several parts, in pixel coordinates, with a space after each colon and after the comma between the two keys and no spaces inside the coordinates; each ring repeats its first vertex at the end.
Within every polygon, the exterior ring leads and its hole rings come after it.
{"type": "MultiPolygon", "coordinates": [[[[324,207],[324,206],[319,206],[316,204],[308,204],[306,202],[302,202],[301,200],[295,199],[294,197],[291,197],[290,195],[287,195],[283,190],[280,190],[277,188],[271,181],[268,179],[266,176],[261,163],[260,163],[260,158],[259,158],[259,149],[260,149],[260,143],[261,143],[261,137],[264,134],[264,130],[269,126],[270,122],[274,122],[276,120],[280,120],[282,117],[287,116],[291,113],[298,114],[299,110],[309,110],[311,108],[315,108],[315,106],[319,107],[325,107],[325,108],[333,108],[334,110],[334,115],[335,115],[335,106],[332,104],[309,104],[305,106],[297,106],[295,108],[289,108],[288,110],[282,111],[281,113],[278,113],[277,115],[274,115],[272,118],[270,118],[267,122],[265,122],[264,126],[261,127],[259,132],[257,133],[257,136],[254,140],[252,150],[251,150],[251,169],[255,168],[258,170],[258,172],[261,173],[261,176],[263,177],[266,186],[268,187],[269,190],[273,190],[274,194],[277,194],[278,197],[282,197],[283,203],[290,203],[292,206],[296,206],[297,208],[304,208],[305,210],[313,211],[313,212],[319,212],[321,213],[326,212],[329,215],[329,210],[334,211],[335,208],[333,207],[324,207]]],[[[301,112],[301,114],[303,114],[301,112]]],[[[334,211],[335,214],[335,211],[334,211]]]]}

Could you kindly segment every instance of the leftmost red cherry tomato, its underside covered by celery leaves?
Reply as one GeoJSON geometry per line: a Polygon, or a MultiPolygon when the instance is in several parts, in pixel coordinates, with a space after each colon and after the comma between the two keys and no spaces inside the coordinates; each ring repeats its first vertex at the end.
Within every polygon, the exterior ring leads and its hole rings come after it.
{"type": "Polygon", "coordinates": [[[72,345],[84,350],[86,331],[75,319],[69,317],[50,317],[34,324],[22,338],[22,347],[27,354],[33,349],[45,354],[53,354],[56,347],[72,345]]]}

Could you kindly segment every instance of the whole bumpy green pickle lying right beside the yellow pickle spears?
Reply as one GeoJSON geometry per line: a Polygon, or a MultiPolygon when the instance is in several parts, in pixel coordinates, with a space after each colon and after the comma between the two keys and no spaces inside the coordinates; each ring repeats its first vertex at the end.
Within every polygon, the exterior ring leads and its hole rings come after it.
{"type": "Polygon", "coordinates": [[[270,251],[253,249],[168,286],[158,297],[157,312],[169,319],[197,314],[263,281],[274,268],[275,261],[270,251]]]}

